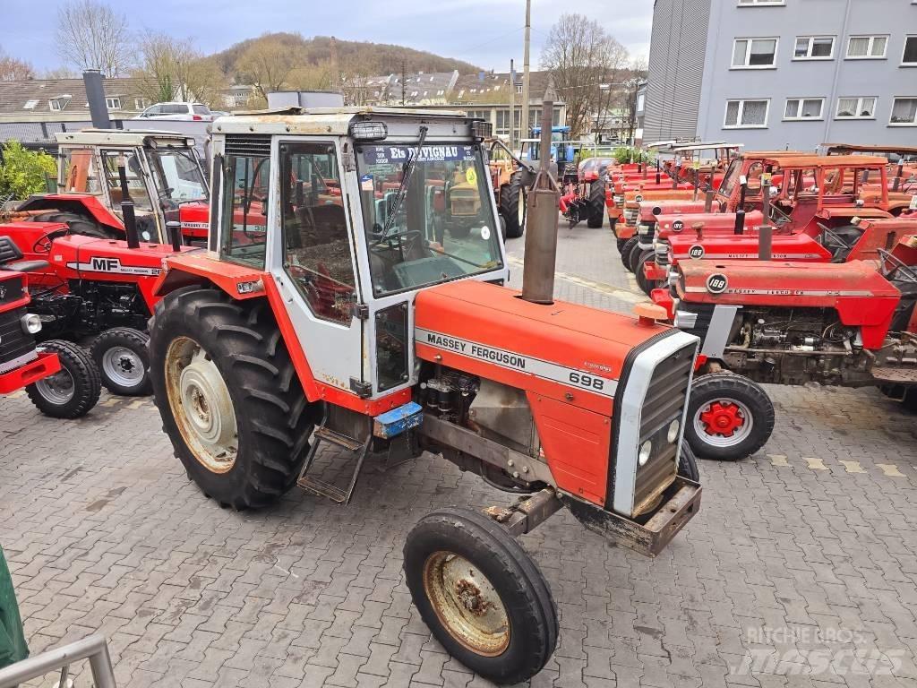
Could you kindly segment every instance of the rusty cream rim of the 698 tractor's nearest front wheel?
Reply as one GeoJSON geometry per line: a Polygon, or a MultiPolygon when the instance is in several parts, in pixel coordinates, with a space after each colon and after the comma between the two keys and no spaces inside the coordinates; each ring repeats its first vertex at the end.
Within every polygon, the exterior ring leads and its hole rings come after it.
{"type": "Polygon", "coordinates": [[[510,620],[492,583],[454,552],[436,551],[424,563],[424,590],[452,638],[484,657],[503,654],[510,620]]]}

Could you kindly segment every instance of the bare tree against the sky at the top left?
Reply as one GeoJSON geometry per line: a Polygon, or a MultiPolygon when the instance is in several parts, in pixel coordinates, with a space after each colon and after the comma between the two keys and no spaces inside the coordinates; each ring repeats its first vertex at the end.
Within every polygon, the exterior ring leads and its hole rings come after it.
{"type": "Polygon", "coordinates": [[[132,58],[127,17],[96,0],[61,6],[55,40],[63,61],[109,77],[127,72],[132,58]]]}

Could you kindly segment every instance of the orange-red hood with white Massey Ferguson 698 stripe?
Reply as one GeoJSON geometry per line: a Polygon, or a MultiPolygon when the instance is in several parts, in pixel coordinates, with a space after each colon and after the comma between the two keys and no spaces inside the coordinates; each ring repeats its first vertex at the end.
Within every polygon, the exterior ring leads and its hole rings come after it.
{"type": "Polygon", "coordinates": [[[473,280],[420,292],[417,357],[610,416],[628,354],[673,332],[582,305],[532,304],[519,294],[473,280]]]}

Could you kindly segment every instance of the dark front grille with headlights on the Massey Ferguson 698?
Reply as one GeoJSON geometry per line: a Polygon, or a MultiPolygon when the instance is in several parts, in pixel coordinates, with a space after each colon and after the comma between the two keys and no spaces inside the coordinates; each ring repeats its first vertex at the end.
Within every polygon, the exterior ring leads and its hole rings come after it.
{"type": "Polygon", "coordinates": [[[691,386],[695,350],[696,344],[691,343],[660,361],[646,390],[637,451],[647,441],[651,442],[652,449],[646,463],[637,467],[635,516],[655,508],[657,497],[675,480],[678,470],[676,452],[682,432],[680,424],[691,386]],[[668,429],[673,421],[679,422],[679,429],[675,441],[669,442],[668,429]]]}

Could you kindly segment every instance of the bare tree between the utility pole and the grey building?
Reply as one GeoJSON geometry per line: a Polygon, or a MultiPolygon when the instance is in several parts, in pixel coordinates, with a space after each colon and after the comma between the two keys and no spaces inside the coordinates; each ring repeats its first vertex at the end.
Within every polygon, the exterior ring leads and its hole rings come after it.
{"type": "Polygon", "coordinates": [[[627,50],[599,22],[577,14],[561,15],[548,34],[541,64],[567,104],[571,136],[590,132],[609,117],[627,50]]]}

